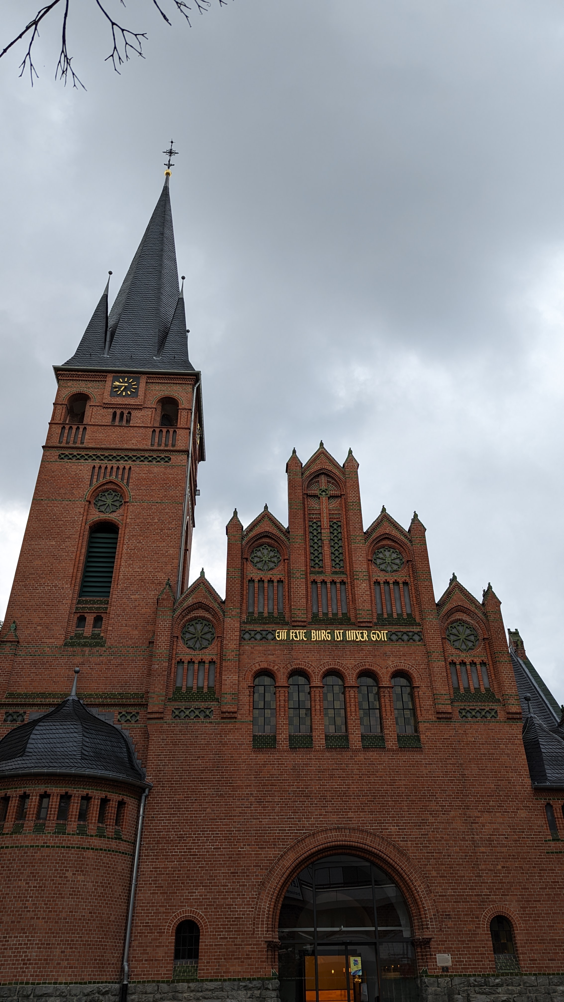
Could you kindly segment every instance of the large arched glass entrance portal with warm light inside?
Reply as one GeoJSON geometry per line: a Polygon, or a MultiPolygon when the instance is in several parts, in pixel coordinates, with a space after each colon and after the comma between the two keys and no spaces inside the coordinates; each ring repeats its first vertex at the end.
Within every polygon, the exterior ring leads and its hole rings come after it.
{"type": "Polygon", "coordinates": [[[292,881],[280,910],[282,1002],[414,1002],[411,936],[388,874],[357,856],[317,860],[292,881]]]}

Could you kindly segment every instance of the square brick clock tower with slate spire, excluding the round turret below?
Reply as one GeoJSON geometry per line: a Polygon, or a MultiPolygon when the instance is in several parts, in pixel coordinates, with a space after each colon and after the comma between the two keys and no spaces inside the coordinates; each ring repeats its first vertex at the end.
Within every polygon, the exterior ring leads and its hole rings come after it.
{"type": "Polygon", "coordinates": [[[106,286],[76,352],[54,367],[2,632],[8,691],[64,692],[69,665],[87,664],[89,690],[143,692],[156,597],[167,581],[177,597],[186,588],[205,451],[169,179],[109,314],[106,286]]]}

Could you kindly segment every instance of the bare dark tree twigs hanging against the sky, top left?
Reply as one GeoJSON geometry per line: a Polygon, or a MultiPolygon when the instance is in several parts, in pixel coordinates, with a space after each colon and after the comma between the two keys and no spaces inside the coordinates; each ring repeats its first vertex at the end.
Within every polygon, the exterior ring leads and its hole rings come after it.
{"type": "MultiPolygon", "coordinates": [[[[46,4],[45,7],[41,7],[37,11],[35,17],[31,19],[29,24],[27,24],[25,28],[23,28],[22,31],[20,31],[19,35],[16,35],[16,37],[13,38],[12,41],[9,42],[8,45],[6,45],[6,47],[2,49],[2,51],[0,52],[0,59],[1,59],[2,56],[5,55],[12,48],[13,45],[16,44],[16,42],[21,41],[21,39],[24,38],[25,35],[31,32],[31,38],[29,40],[27,52],[22,62],[19,65],[19,69],[21,71],[20,76],[23,76],[25,70],[29,69],[31,86],[33,86],[33,76],[35,75],[35,77],[38,78],[37,70],[35,69],[35,66],[33,64],[31,51],[35,39],[39,37],[39,24],[43,20],[43,18],[46,17],[47,14],[51,12],[53,7],[56,7],[57,4],[60,2],[61,0],[52,0],[52,2],[46,4]]],[[[186,0],[172,0],[172,2],[176,7],[177,12],[181,14],[186,21],[188,21],[189,25],[191,25],[189,11],[192,10],[192,7],[190,6],[190,4],[187,3],[186,0]]],[[[95,3],[96,6],[99,8],[100,12],[107,20],[109,24],[109,30],[111,32],[112,49],[109,55],[106,56],[105,62],[108,61],[111,62],[115,72],[119,73],[118,67],[121,66],[124,62],[127,62],[130,58],[130,55],[132,55],[133,53],[135,53],[135,55],[137,56],[140,56],[142,59],[145,59],[143,52],[143,40],[145,39],[147,41],[148,38],[147,32],[132,31],[129,28],[125,28],[123,25],[119,24],[111,17],[111,15],[102,5],[101,0],[95,0],[95,3]]],[[[122,7],[125,6],[124,0],[120,0],[120,3],[122,7]]],[[[153,0],[153,3],[157,7],[157,10],[159,11],[163,19],[167,22],[169,26],[172,27],[172,22],[169,20],[169,17],[167,16],[163,6],[161,6],[161,4],[164,4],[164,0],[153,0]]],[[[194,5],[199,14],[204,14],[212,6],[212,0],[194,0],[194,5]]],[[[219,0],[219,5],[220,7],[227,6],[227,0],[219,0]]],[[[68,75],[70,74],[72,86],[76,87],[77,84],[79,84],[80,87],[82,87],[82,89],[85,89],[84,84],[76,75],[74,69],[71,66],[73,57],[69,56],[68,54],[68,48],[66,42],[66,29],[68,24],[69,6],[70,6],[70,0],[64,0],[64,14],[61,26],[61,48],[59,53],[59,59],[55,69],[55,79],[62,80],[63,83],[66,85],[68,75]]]]}

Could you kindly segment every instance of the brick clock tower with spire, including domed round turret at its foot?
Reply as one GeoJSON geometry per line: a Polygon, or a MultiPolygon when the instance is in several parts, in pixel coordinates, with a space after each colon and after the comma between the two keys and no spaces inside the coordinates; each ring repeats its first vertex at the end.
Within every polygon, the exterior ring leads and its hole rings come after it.
{"type": "Polygon", "coordinates": [[[2,854],[8,980],[121,976],[147,705],[163,698],[159,596],[186,588],[205,458],[170,176],[111,310],[106,286],[54,367],[0,636],[0,835],[25,850],[17,867],[2,854]]]}

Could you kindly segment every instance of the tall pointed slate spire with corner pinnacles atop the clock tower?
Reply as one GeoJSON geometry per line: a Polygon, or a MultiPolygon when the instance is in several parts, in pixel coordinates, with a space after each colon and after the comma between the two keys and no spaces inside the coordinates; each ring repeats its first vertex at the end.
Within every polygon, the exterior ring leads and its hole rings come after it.
{"type": "Polygon", "coordinates": [[[107,313],[107,286],[63,369],[194,372],[179,290],[169,177],[107,313]]]}

